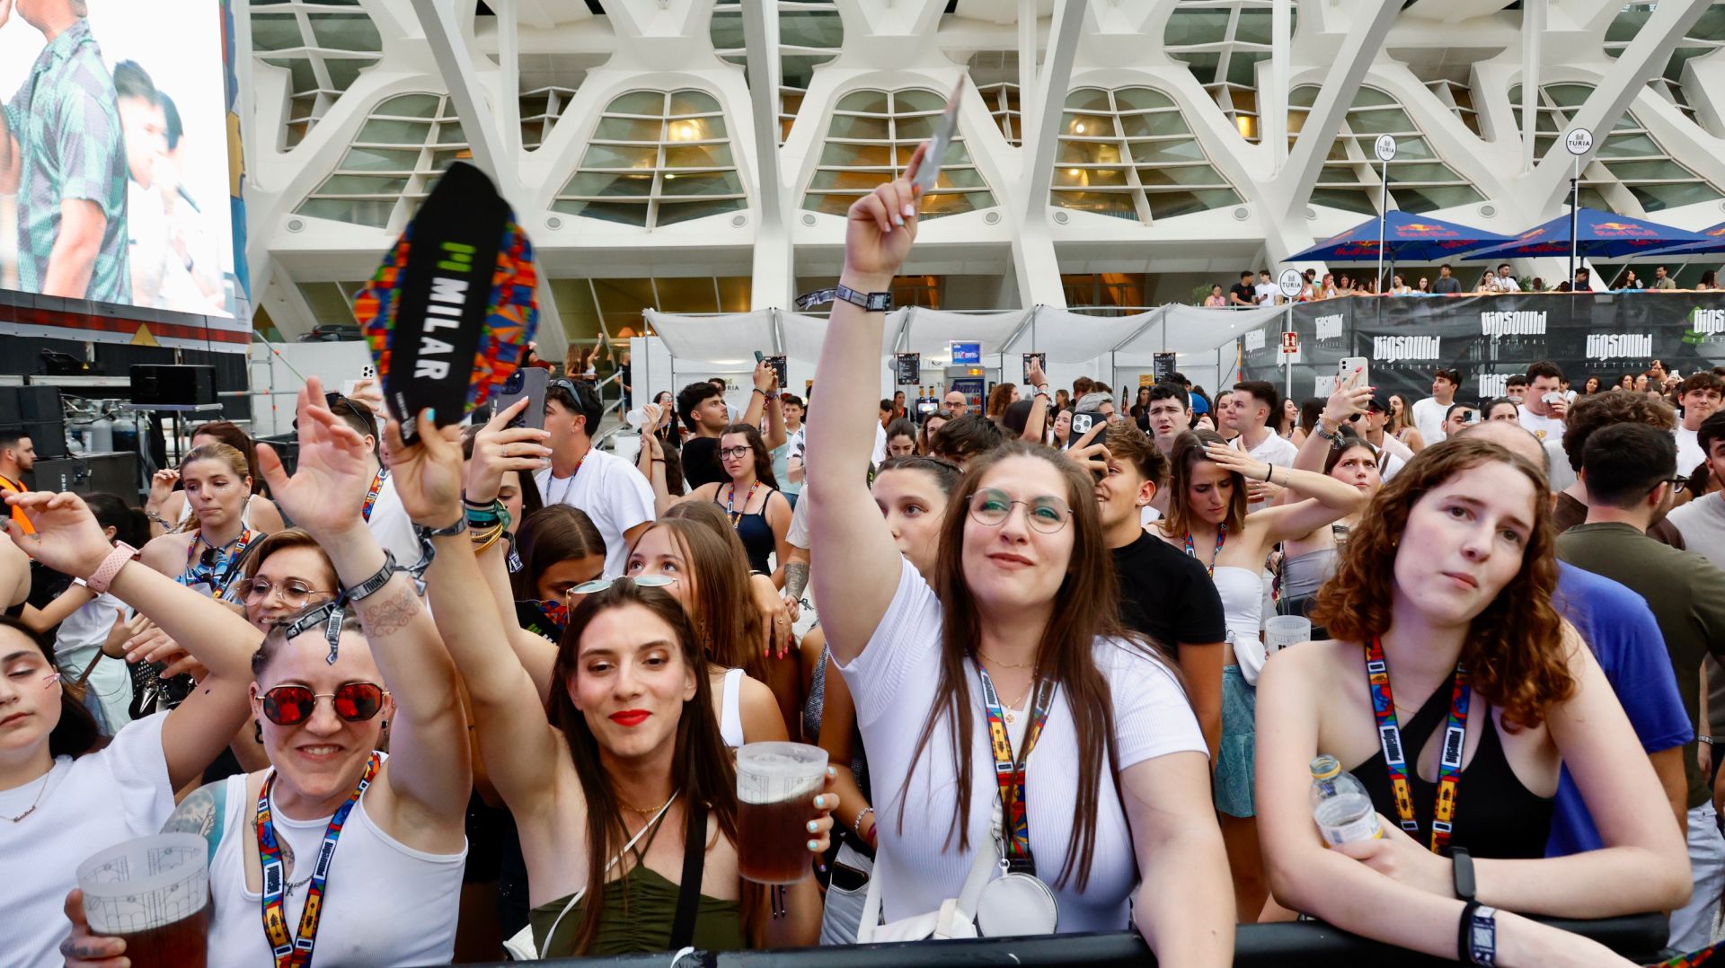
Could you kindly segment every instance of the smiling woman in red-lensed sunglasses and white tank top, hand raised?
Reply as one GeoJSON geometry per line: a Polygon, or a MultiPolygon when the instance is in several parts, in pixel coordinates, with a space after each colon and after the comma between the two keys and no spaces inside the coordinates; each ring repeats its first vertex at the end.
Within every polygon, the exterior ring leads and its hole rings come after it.
{"type": "MultiPolygon", "coordinates": [[[[271,449],[259,466],[328,552],[342,599],[274,625],[252,659],[252,714],[271,766],[200,787],[166,830],[210,842],[210,965],[283,965],[295,946],[319,965],[443,965],[473,789],[455,668],[412,576],[366,528],[369,452],[323,405],[317,380],[300,392],[298,433],[292,478],[271,449]],[[378,752],[386,730],[388,757],[378,752]]],[[[423,419],[421,433],[440,431],[423,419]]],[[[457,443],[443,442],[457,456],[447,481],[424,447],[390,443],[405,506],[440,483],[459,492],[457,443]]],[[[88,937],[81,920],[79,951],[122,954],[122,942],[88,937]]]]}

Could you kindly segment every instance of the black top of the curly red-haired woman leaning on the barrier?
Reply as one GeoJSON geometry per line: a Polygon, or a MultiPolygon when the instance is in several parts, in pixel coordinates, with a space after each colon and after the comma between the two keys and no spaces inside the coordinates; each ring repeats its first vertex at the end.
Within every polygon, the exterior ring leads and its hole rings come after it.
{"type": "MultiPolygon", "coordinates": [[[[1418,752],[1423,752],[1432,733],[1444,726],[1449,716],[1449,692],[1451,683],[1446,680],[1414,713],[1413,720],[1401,723],[1402,749],[1408,756],[1408,787],[1413,792],[1413,818],[1420,825],[1414,840],[1421,845],[1432,842],[1437,783],[1420,776],[1418,752]]],[[[1475,858],[1544,858],[1546,840],[1551,837],[1552,797],[1534,795],[1516,778],[1509,761],[1504,759],[1504,745],[1497,737],[1497,723],[1490,716],[1490,706],[1478,694],[1473,694],[1468,713],[1468,732],[1484,726],[1485,733],[1480,735],[1480,747],[1473,751],[1473,761],[1461,770],[1451,845],[1466,847],[1475,858]]],[[[1373,752],[1371,759],[1354,766],[1352,773],[1366,785],[1378,813],[1396,823],[1396,794],[1390,787],[1389,768],[1383,764],[1383,751],[1373,752]]]]}

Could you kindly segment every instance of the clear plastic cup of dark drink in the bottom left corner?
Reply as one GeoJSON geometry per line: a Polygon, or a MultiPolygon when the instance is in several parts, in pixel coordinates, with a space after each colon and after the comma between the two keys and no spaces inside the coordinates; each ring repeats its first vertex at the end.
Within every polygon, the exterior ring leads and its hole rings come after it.
{"type": "Polygon", "coordinates": [[[157,833],[78,864],[90,933],[126,940],[133,968],[204,968],[209,935],[209,844],[157,833]]]}

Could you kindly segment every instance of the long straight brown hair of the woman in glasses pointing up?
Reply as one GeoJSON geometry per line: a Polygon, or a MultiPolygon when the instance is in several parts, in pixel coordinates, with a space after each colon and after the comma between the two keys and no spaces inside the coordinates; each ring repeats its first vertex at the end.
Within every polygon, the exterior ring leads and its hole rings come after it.
{"type": "MultiPolygon", "coordinates": [[[[1066,863],[1059,873],[1064,885],[1073,875],[1078,890],[1090,880],[1090,863],[1095,854],[1097,808],[1102,792],[1104,757],[1107,768],[1120,775],[1120,751],[1114,747],[1114,701],[1107,680],[1095,664],[1095,640],[1101,637],[1125,638],[1130,647],[1151,661],[1168,668],[1156,649],[1138,635],[1126,633],[1120,625],[1120,590],[1114,564],[1102,540],[1102,523],[1095,511],[1095,481],[1049,447],[1011,442],[976,457],[952,495],[947,519],[940,530],[940,557],[935,564],[935,594],[945,606],[940,628],[940,680],[935,685],[935,702],[923,721],[923,735],[911,756],[911,771],[899,787],[899,830],[904,830],[904,804],[909,799],[911,775],[923,757],[942,716],[952,718],[952,757],[957,763],[957,813],[952,830],[959,849],[969,847],[966,818],[971,811],[971,726],[975,711],[968,676],[969,661],[982,644],[982,607],[964,581],[964,528],[969,523],[971,499],[988,473],[1004,461],[1028,457],[1047,461],[1066,481],[1066,504],[1073,518],[1073,554],[1066,578],[1054,594],[1054,611],[1042,630],[1037,645],[1037,678],[1052,678],[1066,690],[1066,706],[1073,714],[1073,733],[1078,744],[1078,789],[1075,790],[1071,840],[1066,844],[1066,863]],[[1075,870],[1076,868],[1076,870],[1075,870]]],[[[950,844],[950,832],[947,837],[950,844]]]]}

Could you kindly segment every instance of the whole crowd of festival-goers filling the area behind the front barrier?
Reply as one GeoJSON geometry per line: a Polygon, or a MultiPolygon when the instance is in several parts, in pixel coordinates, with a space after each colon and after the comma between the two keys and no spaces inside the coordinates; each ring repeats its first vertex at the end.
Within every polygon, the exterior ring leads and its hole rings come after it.
{"type": "MultiPolygon", "coordinates": [[[[856,202],[845,286],[890,290],[918,205],[856,202]]],[[[159,830],[207,840],[217,966],[1126,928],[1226,965],[1297,916],[1511,968],[1627,965],[1544,916],[1711,940],[1720,374],[1128,405],[1037,366],[913,416],[871,405],[883,324],[835,304],[807,399],[769,362],[742,412],[657,393],[633,464],[583,373],[543,428],[412,445],[314,378],[297,449],[205,424],[143,507],[29,492],[0,437],[3,961],[122,965],[74,868],[159,830]],[[733,757],[785,739],[831,766],[811,877],[769,889],[733,757]],[[1320,837],[1320,756],[1382,837],[1320,837]]]]}

